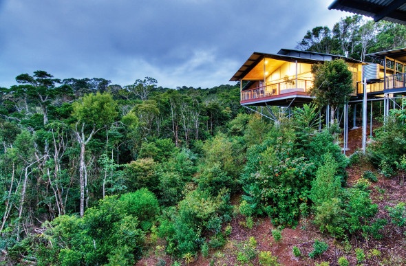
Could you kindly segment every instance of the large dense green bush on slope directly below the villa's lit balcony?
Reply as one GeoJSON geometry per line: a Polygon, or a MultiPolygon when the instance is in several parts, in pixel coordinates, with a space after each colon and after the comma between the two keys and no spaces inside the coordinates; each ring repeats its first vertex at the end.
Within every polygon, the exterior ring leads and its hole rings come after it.
{"type": "Polygon", "coordinates": [[[243,175],[244,195],[253,214],[268,214],[275,224],[295,225],[299,205],[310,187],[313,165],[295,156],[295,146],[286,137],[276,143],[266,140],[253,146],[243,175]]]}

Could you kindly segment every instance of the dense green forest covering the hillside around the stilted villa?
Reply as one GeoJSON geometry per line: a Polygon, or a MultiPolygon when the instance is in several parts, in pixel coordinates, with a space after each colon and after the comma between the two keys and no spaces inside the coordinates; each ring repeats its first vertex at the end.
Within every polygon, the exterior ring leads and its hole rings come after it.
{"type": "MultiPolygon", "coordinates": [[[[299,43],[359,59],[402,46],[405,26],[361,16],[299,43]]],[[[233,221],[250,230],[264,217],[276,242],[301,219],[337,245],[367,246],[389,225],[405,241],[405,201],[379,209],[371,197],[378,179],[404,186],[405,109],[392,111],[365,155],[346,157],[339,124],[319,131],[317,104],[292,115],[273,107],[273,122],[240,106],[239,84],[169,89],[145,77],[120,86],[42,70],[16,82],[0,88],[0,265],[134,265],[151,254],[217,265],[233,221]],[[365,165],[348,184],[348,167],[365,165]]],[[[236,244],[235,264],[278,265],[256,245],[236,244]]],[[[312,263],[328,250],[318,239],[312,247],[312,263]]],[[[363,252],[357,263],[371,259],[363,252]]]]}

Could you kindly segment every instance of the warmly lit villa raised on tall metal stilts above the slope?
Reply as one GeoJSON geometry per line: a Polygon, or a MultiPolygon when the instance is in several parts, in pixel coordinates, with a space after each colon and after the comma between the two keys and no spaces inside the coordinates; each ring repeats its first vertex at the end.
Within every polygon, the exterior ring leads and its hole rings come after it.
{"type": "MultiPolygon", "coordinates": [[[[345,60],[352,72],[354,91],[342,112],[335,112],[337,118],[343,118],[344,121],[341,124],[344,126],[345,151],[350,124],[349,110],[352,111],[352,127],[356,127],[357,113],[363,113],[363,123],[366,123],[367,117],[370,120],[372,135],[372,111],[376,111],[372,107],[380,108],[379,113],[386,116],[389,109],[401,107],[398,99],[406,95],[406,48],[376,52],[367,56],[375,63],[295,49],[281,49],[277,54],[254,52],[231,81],[240,83],[240,103],[243,107],[271,120],[277,120],[279,114],[275,113],[275,107],[279,107],[279,113],[289,116],[292,107],[302,107],[303,104],[314,100],[310,96],[314,81],[312,65],[327,60],[345,60]],[[376,101],[380,104],[373,104],[376,101]]],[[[329,108],[326,107],[325,111],[329,112],[329,108]]],[[[325,115],[325,118],[328,124],[329,115],[325,115]]],[[[365,125],[363,124],[363,127],[366,130],[365,125]]]]}

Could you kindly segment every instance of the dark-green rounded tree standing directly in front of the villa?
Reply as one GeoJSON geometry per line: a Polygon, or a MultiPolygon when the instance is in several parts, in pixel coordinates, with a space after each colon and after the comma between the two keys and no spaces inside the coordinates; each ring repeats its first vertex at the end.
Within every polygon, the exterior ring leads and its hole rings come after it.
{"type": "Polygon", "coordinates": [[[323,64],[312,65],[314,86],[310,95],[315,96],[319,107],[330,105],[332,108],[331,122],[334,122],[334,107],[346,104],[350,100],[352,73],[344,60],[325,61],[323,64]]]}

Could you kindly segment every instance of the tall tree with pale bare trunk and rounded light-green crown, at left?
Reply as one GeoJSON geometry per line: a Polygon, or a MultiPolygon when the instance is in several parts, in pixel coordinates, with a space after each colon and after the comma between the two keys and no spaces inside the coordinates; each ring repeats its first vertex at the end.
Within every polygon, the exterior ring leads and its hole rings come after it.
{"type": "Polygon", "coordinates": [[[85,148],[94,134],[114,122],[118,112],[116,111],[117,104],[109,93],[88,94],[72,105],[74,109],[72,115],[76,118],[74,133],[78,144],[81,146],[79,179],[81,183],[80,212],[81,217],[83,217],[85,212],[85,190],[86,195],[88,195],[85,148]]]}

